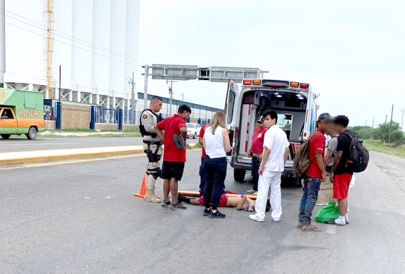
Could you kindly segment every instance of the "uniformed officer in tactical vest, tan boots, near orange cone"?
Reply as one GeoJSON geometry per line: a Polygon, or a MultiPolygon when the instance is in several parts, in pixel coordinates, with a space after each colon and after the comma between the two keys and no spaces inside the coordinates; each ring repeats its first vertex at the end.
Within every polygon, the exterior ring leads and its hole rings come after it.
{"type": "Polygon", "coordinates": [[[161,202],[160,197],[155,195],[156,179],[162,174],[160,169],[160,157],[162,157],[162,140],[156,135],[155,126],[162,119],[157,115],[162,109],[162,98],[153,96],[150,99],[149,108],[141,112],[139,130],[143,136],[143,150],[148,156],[146,169],[146,195],[148,202],[161,202]]]}

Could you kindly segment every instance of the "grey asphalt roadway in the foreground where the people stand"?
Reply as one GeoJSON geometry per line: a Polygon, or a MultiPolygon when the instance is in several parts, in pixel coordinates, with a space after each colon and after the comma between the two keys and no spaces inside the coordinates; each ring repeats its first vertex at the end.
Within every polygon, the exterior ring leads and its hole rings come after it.
{"type": "MultiPolygon", "coordinates": [[[[181,189],[197,190],[199,152],[181,189]]],[[[346,227],[295,228],[300,189],[283,189],[280,223],[248,212],[169,211],[132,193],[146,158],[0,167],[1,273],[403,273],[405,160],[371,154],[356,176],[346,227]],[[392,164],[389,164],[390,161],[392,164]],[[397,161],[397,162],[395,162],[397,161]],[[403,172],[401,172],[403,174],[403,172]]],[[[161,182],[161,181],[160,181],[161,182]]],[[[248,190],[250,183],[226,187],[248,190]]],[[[161,189],[159,188],[159,192],[161,189]]],[[[318,210],[317,208],[316,210],[318,210]]]]}

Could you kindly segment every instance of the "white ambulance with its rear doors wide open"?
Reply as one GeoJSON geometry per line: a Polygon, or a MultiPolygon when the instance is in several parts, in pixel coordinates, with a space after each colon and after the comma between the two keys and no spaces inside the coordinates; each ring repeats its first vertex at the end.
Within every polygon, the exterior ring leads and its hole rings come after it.
{"type": "Polygon", "coordinates": [[[229,80],[225,114],[233,145],[228,160],[233,167],[235,181],[243,181],[246,172],[251,170],[252,159],[248,152],[257,119],[266,110],[275,110],[277,124],[287,133],[290,141],[290,156],[285,164],[283,181],[299,184],[293,171],[293,158],[302,141],[315,130],[317,96],[309,84],[297,81],[243,79],[239,91],[238,86],[229,80]]]}

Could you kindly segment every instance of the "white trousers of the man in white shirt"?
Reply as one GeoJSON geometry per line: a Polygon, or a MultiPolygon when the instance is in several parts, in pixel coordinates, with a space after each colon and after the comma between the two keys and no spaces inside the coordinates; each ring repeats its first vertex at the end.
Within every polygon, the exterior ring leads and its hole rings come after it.
{"type": "Polygon", "coordinates": [[[259,176],[255,204],[257,217],[266,216],[266,203],[270,188],[271,218],[274,220],[281,218],[281,174],[282,172],[278,171],[263,171],[263,174],[259,176]]]}

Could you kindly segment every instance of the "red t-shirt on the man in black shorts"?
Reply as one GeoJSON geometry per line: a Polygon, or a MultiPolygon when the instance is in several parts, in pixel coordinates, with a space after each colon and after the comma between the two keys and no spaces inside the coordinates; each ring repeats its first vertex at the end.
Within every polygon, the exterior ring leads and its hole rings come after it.
{"type": "MultiPolygon", "coordinates": [[[[174,115],[164,119],[162,122],[158,123],[158,129],[165,131],[165,140],[163,144],[165,145],[163,153],[163,161],[166,162],[186,162],[186,150],[179,150],[174,145],[173,136],[181,135],[180,129],[186,127],[186,121],[179,115],[174,115]]],[[[186,138],[184,138],[184,143],[186,143],[186,138]]]]}

